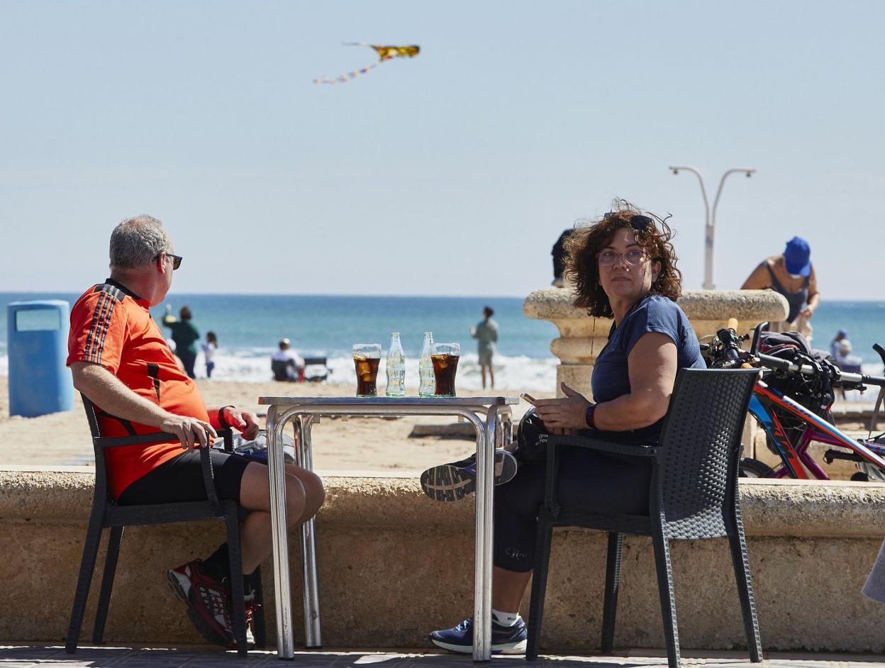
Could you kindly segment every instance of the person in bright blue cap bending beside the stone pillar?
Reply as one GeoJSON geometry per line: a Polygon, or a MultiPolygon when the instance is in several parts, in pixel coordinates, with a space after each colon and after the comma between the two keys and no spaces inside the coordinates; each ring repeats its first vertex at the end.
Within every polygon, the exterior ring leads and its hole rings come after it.
{"type": "Polygon", "coordinates": [[[782,322],[771,323],[773,332],[798,332],[812,341],[812,319],[820,304],[818,281],[814,277],[812,249],[801,236],[787,242],[781,255],[767,257],[750,277],[743,281],[743,290],[771,288],[787,298],[789,314],[782,322]]]}

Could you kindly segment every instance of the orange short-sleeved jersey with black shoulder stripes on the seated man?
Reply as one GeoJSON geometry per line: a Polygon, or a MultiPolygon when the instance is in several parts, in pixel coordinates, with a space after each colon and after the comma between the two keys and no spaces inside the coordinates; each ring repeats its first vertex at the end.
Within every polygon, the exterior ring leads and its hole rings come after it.
{"type": "MultiPolygon", "coordinates": [[[[116,280],[89,288],[73,305],[67,365],[102,365],[136,395],[175,415],[209,421],[196,383],[182,372],[157,323],[150,303],[116,280]]],[[[151,434],[155,426],[117,418],[96,405],[103,436],[151,434]]],[[[165,461],[181,454],[181,442],[131,445],[105,451],[113,498],[165,461]]]]}

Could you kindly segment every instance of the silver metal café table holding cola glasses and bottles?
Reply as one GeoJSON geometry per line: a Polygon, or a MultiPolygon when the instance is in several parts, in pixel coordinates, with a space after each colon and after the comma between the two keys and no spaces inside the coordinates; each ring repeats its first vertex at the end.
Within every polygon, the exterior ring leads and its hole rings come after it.
{"type": "MultiPolygon", "coordinates": [[[[296,464],[313,469],[311,426],[321,416],[451,415],[476,428],[476,553],[473,559],[473,661],[491,659],[492,499],[494,451],[512,440],[510,407],[515,396],[466,397],[329,397],[262,396],[267,406],[267,464],[270,472],[273,587],[276,594],[277,651],[281,659],[295,656],[292,593],[289,585],[289,535],[286,531],[286,476],[282,433],[294,422],[296,464]]],[[[319,648],[319,587],[313,519],[301,527],[304,569],[305,646],[319,648]]]]}

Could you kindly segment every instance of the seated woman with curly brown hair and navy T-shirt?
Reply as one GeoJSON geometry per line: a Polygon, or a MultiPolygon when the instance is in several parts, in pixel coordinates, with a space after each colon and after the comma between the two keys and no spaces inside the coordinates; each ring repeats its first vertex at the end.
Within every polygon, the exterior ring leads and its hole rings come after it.
{"type": "MultiPolygon", "coordinates": [[[[596,357],[592,387],[596,403],[565,383],[558,399],[536,402],[544,426],[554,432],[590,430],[596,438],[649,443],[660,434],[676,371],[704,368],[697,337],[676,304],[681,273],[663,219],[618,201],[616,211],[577,227],[568,241],[566,277],[574,303],[589,315],[613,318],[596,357]]],[[[520,465],[495,491],[492,582],[492,650],[525,651],[526,626],[519,604],[535,565],[537,511],[543,503],[545,461],[520,465]]],[[[650,463],[585,449],[563,453],[563,503],[617,513],[648,512],[650,463]]],[[[472,651],[473,623],[430,634],[438,647],[472,651]]]]}

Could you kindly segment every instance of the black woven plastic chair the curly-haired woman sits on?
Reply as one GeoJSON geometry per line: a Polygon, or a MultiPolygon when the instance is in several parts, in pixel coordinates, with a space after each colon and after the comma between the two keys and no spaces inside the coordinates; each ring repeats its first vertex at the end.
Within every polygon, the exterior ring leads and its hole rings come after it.
{"type": "Polygon", "coordinates": [[[583,526],[608,532],[602,651],[612,653],[624,534],[651,536],[664,618],[667,661],[680,662],[669,541],[727,536],[735,567],[750,660],[762,660],[762,644],[750,581],[737,493],[741,433],[758,377],[755,369],[681,369],[658,446],[620,445],[581,436],[550,436],[544,503],[538,512],[536,563],[529,608],[526,658],[535,660],[541,641],[544,595],[554,526],[583,526]],[[611,515],[558,503],[558,465],[564,447],[650,459],[649,514],[611,515]]]}

